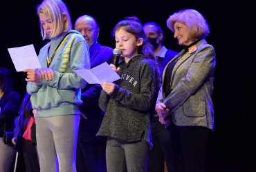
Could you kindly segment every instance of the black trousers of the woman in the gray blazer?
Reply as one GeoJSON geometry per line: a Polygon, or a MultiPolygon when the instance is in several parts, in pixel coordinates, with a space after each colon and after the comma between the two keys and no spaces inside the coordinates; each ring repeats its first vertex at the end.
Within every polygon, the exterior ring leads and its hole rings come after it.
{"type": "Polygon", "coordinates": [[[168,127],[173,171],[204,172],[208,140],[212,131],[205,127],[168,127]]]}

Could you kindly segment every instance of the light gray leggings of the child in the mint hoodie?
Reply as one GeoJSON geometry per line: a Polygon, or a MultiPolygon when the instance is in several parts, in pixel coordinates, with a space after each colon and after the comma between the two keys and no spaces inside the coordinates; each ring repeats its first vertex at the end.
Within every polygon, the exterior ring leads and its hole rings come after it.
{"type": "Polygon", "coordinates": [[[41,172],[74,172],[78,115],[36,118],[37,151],[41,172]]]}

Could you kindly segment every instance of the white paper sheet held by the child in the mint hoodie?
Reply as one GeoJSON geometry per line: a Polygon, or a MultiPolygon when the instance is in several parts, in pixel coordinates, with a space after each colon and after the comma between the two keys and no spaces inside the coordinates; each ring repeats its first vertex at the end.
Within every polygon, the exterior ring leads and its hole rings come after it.
{"type": "Polygon", "coordinates": [[[33,44],[8,48],[8,52],[17,72],[24,71],[24,69],[41,68],[33,44]]]}

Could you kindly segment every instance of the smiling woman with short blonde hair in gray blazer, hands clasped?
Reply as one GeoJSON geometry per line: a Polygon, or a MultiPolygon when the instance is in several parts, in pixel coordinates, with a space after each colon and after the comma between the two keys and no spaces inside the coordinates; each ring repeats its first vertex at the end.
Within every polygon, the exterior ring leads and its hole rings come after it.
{"type": "Polygon", "coordinates": [[[186,9],[172,14],[167,27],[185,48],[164,69],[156,111],[170,133],[172,171],[176,171],[177,164],[184,164],[186,172],[205,171],[214,123],[211,96],[215,52],[205,41],[208,23],[196,10],[186,9]],[[183,156],[181,163],[177,163],[179,153],[183,156]]]}

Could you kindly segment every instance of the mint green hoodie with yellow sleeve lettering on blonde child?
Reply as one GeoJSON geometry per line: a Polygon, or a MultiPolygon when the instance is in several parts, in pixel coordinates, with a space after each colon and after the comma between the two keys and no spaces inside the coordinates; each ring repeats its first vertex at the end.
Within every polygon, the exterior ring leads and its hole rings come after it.
{"type": "MultiPolygon", "coordinates": [[[[86,81],[75,74],[74,70],[90,68],[89,47],[79,32],[70,32],[49,66],[54,71],[54,78],[41,78],[40,84],[27,84],[27,92],[31,95],[33,109],[37,109],[37,117],[79,114],[78,106],[82,104],[81,89],[86,86],[86,81]]],[[[51,39],[49,58],[68,33],[51,39]]],[[[42,68],[47,67],[48,44],[42,47],[38,55],[42,68]]]]}

